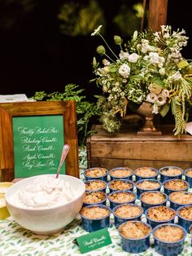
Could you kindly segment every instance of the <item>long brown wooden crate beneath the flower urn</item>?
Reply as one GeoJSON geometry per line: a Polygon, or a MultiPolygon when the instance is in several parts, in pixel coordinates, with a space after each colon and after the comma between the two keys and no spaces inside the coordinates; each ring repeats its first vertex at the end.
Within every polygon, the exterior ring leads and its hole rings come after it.
{"type": "Polygon", "coordinates": [[[88,167],[179,166],[192,167],[192,136],[174,136],[171,126],[162,126],[162,135],[137,135],[137,130],[123,127],[109,134],[103,126],[94,126],[95,133],[87,139],[88,167]]]}

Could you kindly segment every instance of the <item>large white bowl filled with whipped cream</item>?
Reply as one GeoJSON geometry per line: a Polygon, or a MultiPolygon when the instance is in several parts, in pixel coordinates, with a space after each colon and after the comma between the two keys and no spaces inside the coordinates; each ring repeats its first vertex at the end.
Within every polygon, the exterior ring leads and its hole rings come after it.
{"type": "Polygon", "coordinates": [[[81,210],[85,184],[76,177],[43,174],[22,179],[5,194],[7,208],[21,227],[41,235],[59,232],[81,210]]]}

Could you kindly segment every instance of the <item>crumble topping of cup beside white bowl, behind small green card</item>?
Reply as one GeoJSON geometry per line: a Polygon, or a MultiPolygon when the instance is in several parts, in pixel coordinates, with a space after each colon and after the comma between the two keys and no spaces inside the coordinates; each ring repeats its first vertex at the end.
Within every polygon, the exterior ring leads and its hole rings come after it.
{"type": "Polygon", "coordinates": [[[83,207],[80,213],[85,218],[105,218],[110,214],[110,210],[99,206],[91,206],[83,207]]]}

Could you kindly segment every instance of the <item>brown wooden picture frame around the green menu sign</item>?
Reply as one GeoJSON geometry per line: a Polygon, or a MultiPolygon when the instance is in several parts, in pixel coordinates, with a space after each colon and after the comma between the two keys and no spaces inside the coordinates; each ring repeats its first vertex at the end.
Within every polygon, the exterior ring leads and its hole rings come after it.
{"type": "Polygon", "coordinates": [[[75,101],[39,101],[0,104],[0,170],[2,182],[15,179],[13,117],[51,115],[63,115],[64,143],[68,143],[70,146],[65,160],[66,174],[79,178],[75,101]]]}

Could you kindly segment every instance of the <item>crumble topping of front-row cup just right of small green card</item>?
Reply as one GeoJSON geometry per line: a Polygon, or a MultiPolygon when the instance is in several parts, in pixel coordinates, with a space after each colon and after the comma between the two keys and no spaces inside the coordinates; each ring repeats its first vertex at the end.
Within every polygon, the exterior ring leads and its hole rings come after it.
{"type": "Polygon", "coordinates": [[[126,222],[120,226],[120,234],[126,238],[141,239],[151,232],[151,228],[145,223],[126,222]]]}

